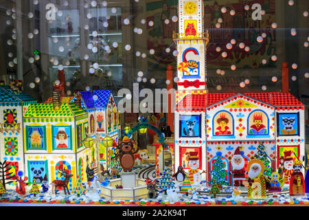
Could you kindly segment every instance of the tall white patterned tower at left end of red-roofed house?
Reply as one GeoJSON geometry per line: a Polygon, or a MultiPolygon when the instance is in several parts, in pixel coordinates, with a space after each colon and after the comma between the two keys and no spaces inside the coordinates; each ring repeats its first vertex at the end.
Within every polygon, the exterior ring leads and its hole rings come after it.
{"type": "MultiPolygon", "coordinates": [[[[174,113],[175,168],[183,166],[187,173],[196,173],[206,170],[205,55],[209,39],[204,31],[203,0],[179,0],[178,12],[179,33],[173,34],[179,52],[174,113]],[[194,155],[194,160],[190,155],[194,155]]],[[[199,178],[195,178],[195,184],[201,181],[201,175],[199,178]]]]}

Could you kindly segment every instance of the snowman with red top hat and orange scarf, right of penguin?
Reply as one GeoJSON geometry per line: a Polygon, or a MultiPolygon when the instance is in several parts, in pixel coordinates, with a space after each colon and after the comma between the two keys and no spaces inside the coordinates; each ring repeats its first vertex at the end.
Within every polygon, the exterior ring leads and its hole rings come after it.
{"type": "Polygon", "coordinates": [[[189,168],[189,175],[187,176],[190,179],[190,184],[192,186],[199,186],[202,181],[201,173],[198,170],[200,166],[198,162],[198,152],[190,152],[189,162],[187,163],[189,168]]]}

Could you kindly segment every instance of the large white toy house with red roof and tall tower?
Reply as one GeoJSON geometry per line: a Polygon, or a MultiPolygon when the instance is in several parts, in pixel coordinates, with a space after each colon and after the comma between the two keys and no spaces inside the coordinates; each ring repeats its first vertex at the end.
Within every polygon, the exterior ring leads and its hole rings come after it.
{"type": "MultiPolygon", "coordinates": [[[[286,89],[287,65],[282,65],[282,92],[208,94],[204,59],[208,36],[203,32],[203,1],[179,0],[179,32],[174,34],[179,51],[175,167],[183,166],[187,171],[190,154],[197,155],[198,170],[206,170],[209,181],[218,156],[229,173],[231,157],[238,146],[247,167],[261,143],[273,170],[277,170],[284,151],[292,151],[293,157],[302,159],[305,107],[286,89]]],[[[228,175],[227,180],[231,183],[232,176],[228,175]]]]}

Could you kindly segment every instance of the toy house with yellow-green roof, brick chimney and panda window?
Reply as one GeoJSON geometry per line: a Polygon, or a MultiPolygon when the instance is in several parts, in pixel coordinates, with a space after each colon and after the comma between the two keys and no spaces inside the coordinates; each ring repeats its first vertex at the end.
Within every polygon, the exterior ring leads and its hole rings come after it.
{"type": "Polygon", "coordinates": [[[49,182],[60,179],[60,168],[73,175],[69,190],[77,178],[86,180],[86,159],[94,158],[93,149],[82,143],[87,129],[87,111],[74,102],[60,102],[58,91],[54,91],[52,103],[30,104],[23,120],[25,175],[29,180],[35,178],[36,184],[41,184],[45,174],[49,182]]]}

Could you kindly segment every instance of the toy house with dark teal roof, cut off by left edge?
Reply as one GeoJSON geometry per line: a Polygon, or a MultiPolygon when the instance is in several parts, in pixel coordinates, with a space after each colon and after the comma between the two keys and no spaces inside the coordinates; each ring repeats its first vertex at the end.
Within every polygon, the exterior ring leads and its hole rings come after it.
{"type": "Polygon", "coordinates": [[[35,102],[21,87],[0,86],[0,157],[7,161],[12,175],[24,169],[23,112],[35,102]]]}

